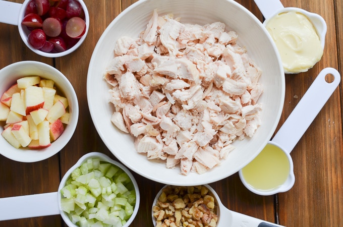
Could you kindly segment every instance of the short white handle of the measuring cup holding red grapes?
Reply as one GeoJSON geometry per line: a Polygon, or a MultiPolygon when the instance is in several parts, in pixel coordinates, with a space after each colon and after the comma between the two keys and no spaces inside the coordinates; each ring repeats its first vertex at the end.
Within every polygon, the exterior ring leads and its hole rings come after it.
{"type": "Polygon", "coordinates": [[[0,22],[18,25],[19,12],[22,7],[20,3],[12,3],[0,0],[0,22]]]}

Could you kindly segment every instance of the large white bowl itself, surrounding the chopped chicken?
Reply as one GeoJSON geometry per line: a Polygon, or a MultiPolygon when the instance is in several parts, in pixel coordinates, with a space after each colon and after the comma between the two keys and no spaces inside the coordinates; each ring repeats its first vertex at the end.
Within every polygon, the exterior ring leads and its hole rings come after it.
{"type": "Polygon", "coordinates": [[[262,23],[247,9],[228,0],[140,0],[123,11],[106,28],[95,46],[88,69],[87,98],[92,120],[108,149],[136,173],[169,185],[201,185],[221,180],[238,172],[252,161],[267,144],[278,124],[284,101],[284,72],[276,47],[262,23]],[[106,65],[113,58],[117,39],[123,35],[138,37],[144,31],[153,10],[159,15],[173,13],[182,23],[205,25],[220,21],[238,33],[239,44],[263,71],[260,82],[264,93],[262,125],[251,139],[236,141],[236,149],[205,174],[180,174],[180,169],[167,169],[164,161],[147,160],[137,153],[134,139],[120,132],[110,122],[113,113],[108,103],[109,86],[103,80],[106,65]]]}

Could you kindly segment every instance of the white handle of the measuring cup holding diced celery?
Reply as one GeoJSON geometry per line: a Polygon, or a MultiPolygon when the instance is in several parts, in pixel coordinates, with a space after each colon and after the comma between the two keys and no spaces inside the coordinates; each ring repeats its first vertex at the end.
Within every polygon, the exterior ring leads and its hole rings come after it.
{"type": "Polygon", "coordinates": [[[57,192],[0,198],[0,221],[60,214],[58,200],[57,192]]]}

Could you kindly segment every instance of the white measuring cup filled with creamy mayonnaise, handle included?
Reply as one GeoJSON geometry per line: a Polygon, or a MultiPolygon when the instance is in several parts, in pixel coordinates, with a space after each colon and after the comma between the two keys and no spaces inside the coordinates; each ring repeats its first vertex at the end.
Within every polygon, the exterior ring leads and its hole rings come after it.
{"type": "Polygon", "coordinates": [[[276,44],[284,72],[295,74],[312,68],[323,54],[327,30],[325,20],[318,14],[300,8],[284,8],[279,0],[254,1],[265,18],[263,25],[276,44]],[[286,14],[293,16],[281,19],[286,14]],[[298,23],[297,20],[302,21],[298,23]]]}

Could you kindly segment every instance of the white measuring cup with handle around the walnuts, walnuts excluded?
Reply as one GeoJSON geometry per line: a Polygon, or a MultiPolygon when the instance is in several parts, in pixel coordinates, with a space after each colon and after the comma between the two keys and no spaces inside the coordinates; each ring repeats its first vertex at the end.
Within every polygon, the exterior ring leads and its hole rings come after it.
{"type": "MultiPolygon", "coordinates": [[[[218,194],[214,191],[214,189],[209,185],[204,185],[210,193],[209,195],[214,196],[215,199],[215,206],[216,206],[216,214],[218,215],[218,220],[216,222],[216,227],[234,227],[234,226],[244,226],[244,227],[272,227],[272,226],[283,226],[279,224],[275,224],[272,222],[268,222],[262,219],[258,219],[256,217],[248,216],[242,213],[238,213],[232,210],[227,209],[220,201],[218,194]]],[[[165,185],[156,195],[155,200],[153,202],[154,206],[157,203],[158,197],[161,195],[163,189],[168,187],[165,185]]],[[[153,216],[152,212],[152,222],[154,226],[156,226],[156,219],[153,216]]]]}

